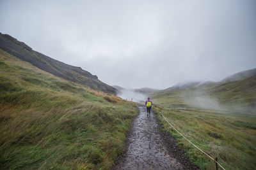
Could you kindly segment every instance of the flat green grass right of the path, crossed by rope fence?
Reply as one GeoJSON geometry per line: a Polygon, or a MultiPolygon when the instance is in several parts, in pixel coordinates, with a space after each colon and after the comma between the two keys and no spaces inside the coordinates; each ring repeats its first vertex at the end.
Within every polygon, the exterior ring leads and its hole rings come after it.
{"type": "MultiPolygon", "coordinates": [[[[156,103],[156,101],[155,101],[156,103]]],[[[182,105],[182,104],[181,104],[182,105]]],[[[256,168],[256,116],[200,109],[175,109],[157,106],[157,117],[201,169],[216,169],[214,162],[182,138],[161,114],[196,146],[225,169],[256,168]]]]}

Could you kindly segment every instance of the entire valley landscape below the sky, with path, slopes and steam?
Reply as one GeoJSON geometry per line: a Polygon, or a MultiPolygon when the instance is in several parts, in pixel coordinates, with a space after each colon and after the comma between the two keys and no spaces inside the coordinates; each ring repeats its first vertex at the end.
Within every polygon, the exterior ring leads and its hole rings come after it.
{"type": "Polygon", "coordinates": [[[217,82],[125,89],[7,34],[0,47],[1,169],[215,169],[162,115],[225,169],[256,167],[256,69],[217,82]]]}

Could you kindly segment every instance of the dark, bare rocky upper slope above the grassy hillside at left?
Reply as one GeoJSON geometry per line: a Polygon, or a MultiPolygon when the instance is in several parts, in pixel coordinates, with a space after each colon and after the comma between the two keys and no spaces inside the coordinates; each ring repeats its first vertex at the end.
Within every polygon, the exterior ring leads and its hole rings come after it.
{"type": "Polygon", "coordinates": [[[116,89],[106,83],[102,83],[102,81],[98,80],[97,76],[84,71],[81,67],[70,66],[42,53],[35,52],[28,45],[12,38],[12,36],[0,33],[0,48],[54,76],[80,83],[94,90],[115,94],[116,89]]]}

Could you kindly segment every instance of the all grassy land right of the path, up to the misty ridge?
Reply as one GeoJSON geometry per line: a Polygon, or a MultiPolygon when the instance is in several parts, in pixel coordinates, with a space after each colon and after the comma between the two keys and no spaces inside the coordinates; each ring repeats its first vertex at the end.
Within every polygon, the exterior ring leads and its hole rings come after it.
{"type": "Polygon", "coordinates": [[[216,83],[163,90],[152,100],[158,104],[154,111],[164,130],[177,138],[180,147],[202,169],[215,169],[215,164],[170,128],[161,114],[195,145],[218,157],[226,169],[256,169],[254,70],[216,83]]]}

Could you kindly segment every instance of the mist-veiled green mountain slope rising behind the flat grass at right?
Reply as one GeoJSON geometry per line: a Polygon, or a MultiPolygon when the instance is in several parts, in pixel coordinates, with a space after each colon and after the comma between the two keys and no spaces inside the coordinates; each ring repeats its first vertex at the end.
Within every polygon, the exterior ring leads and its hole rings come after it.
{"type": "Polygon", "coordinates": [[[219,82],[188,89],[169,88],[154,94],[164,105],[193,106],[216,110],[256,111],[256,69],[242,71],[219,82]],[[228,107],[226,107],[228,106],[228,107]]]}

